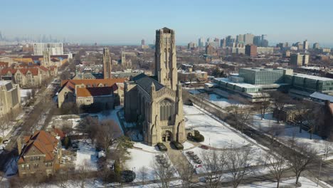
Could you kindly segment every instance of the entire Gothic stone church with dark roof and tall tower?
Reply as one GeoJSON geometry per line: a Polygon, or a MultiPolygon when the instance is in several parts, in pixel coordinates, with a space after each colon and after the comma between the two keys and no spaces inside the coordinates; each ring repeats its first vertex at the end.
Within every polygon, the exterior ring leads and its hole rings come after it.
{"type": "Polygon", "coordinates": [[[125,119],[142,127],[144,142],[186,140],[181,85],[177,84],[174,31],[156,31],[155,76],[125,82],[125,119]]]}

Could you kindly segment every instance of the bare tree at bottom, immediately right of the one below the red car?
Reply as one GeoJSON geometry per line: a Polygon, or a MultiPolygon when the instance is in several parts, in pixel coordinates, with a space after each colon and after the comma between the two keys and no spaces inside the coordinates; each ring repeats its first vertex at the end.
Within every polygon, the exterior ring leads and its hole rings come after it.
{"type": "Polygon", "coordinates": [[[236,188],[243,181],[246,174],[250,173],[251,150],[248,148],[230,148],[226,152],[227,169],[231,170],[233,187],[236,188]]]}

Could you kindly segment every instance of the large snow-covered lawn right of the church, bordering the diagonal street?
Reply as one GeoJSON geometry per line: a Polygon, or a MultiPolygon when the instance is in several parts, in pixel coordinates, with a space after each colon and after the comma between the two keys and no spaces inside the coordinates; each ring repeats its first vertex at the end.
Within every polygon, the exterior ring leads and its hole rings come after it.
{"type": "MultiPolygon", "coordinates": [[[[198,107],[184,105],[184,114],[186,118],[186,127],[191,127],[194,130],[199,130],[201,135],[205,137],[205,140],[201,142],[203,145],[209,145],[218,149],[228,148],[250,148],[250,163],[255,166],[258,164],[264,164],[265,150],[263,146],[258,145],[255,140],[250,139],[246,135],[242,135],[238,130],[234,130],[233,127],[221,120],[216,120],[212,115],[206,114],[205,111],[198,107]]],[[[241,149],[240,149],[241,150],[241,149]]],[[[199,159],[203,159],[204,155],[208,155],[209,150],[203,150],[200,147],[191,149],[199,159]]],[[[197,173],[206,172],[201,165],[196,164],[189,155],[186,155],[186,151],[183,152],[186,159],[196,168],[197,173]]]]}

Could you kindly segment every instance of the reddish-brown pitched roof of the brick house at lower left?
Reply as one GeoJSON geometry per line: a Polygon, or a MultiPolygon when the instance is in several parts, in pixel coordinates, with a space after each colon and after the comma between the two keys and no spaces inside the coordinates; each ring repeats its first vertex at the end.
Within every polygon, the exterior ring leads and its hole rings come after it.
{"type": "Polygon", "coordinates": [[[55,154],[53,151],[58,147],[59,140],[56,139],[50,133],[39,130],[31,135],[30,137],[24,137],[24,147],[21,151],[20,158],[18,160],[18,164],[25,162],[26,154],[31,150],[31,148],[36,147],[43,155],[45,155],[45,161],[54,160],[55,154]]]}

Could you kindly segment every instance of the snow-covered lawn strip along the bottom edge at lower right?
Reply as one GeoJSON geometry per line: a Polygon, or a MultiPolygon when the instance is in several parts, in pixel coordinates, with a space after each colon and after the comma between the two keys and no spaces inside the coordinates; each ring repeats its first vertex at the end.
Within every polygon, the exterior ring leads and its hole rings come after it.
{"type": "MultiPolygon", "coordinates": [[[[289,179],[283,179],[282,182],[280,182],[280,187],[294,187],[296,182],[296,178],[289,178],[289,179]]],[[[312,182],[310,179],[307,179],[305,177],[300,177],[299,182],[302,184],[301,187],[306,187],[306,188],[311,188],[311,187],[321,187],[317,186],[317,182],[312,182]]],[[[276,187],[276,182],[270,182],[270,181],[265,181],[265,182],[253,182],[251,184],[246,184],[246,185],[240,185],[240,188],[246,188],[246,187],[276,187]]]]}

